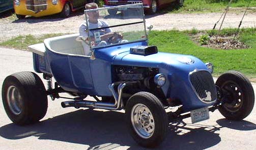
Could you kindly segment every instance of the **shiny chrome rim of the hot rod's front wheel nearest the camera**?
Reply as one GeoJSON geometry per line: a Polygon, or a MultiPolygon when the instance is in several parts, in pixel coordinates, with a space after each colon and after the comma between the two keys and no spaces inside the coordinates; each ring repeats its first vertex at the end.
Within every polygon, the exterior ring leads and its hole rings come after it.
{"type": "Polygon", "coordinates": [[[141,103],[132,107],[131,122],[135,132],[142,138],[150,138],[155,131],[155,120],[150,109],[141,103]]]}

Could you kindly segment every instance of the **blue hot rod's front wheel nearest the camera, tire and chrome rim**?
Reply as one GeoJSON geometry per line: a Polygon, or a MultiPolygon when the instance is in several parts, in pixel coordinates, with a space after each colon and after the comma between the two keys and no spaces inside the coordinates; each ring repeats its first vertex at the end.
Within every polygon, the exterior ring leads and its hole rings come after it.
{"type": "Polygon", "coordinates": [[[167,116],[162,102],[149,92],[138,92],[126,103],[126,122],[132,138],[141,146],[155,147],[165,138],[167,116]]]}

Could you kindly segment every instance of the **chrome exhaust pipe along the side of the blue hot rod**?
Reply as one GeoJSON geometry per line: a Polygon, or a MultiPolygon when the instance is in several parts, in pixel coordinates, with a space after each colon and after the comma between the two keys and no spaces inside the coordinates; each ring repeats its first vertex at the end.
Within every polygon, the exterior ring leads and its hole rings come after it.
{"type": "Polygon", "coordinates": [[[108,102],[96,102],[96,101],[64,101],[61,103],[63,108],[66,107],[89,107],[89,108],[101,108],[101,109],[109,109],[109,110],[119,110],[123,108],[123,101],[122,101],[122,92],[126,83],[119,84],[118,86],[118,93],[115,91],[114,87],[115,84],[111,84],[108,86],[109,90],[112,92],[113,97],[115,98],[115,103],[108,103],[108,102]]]}

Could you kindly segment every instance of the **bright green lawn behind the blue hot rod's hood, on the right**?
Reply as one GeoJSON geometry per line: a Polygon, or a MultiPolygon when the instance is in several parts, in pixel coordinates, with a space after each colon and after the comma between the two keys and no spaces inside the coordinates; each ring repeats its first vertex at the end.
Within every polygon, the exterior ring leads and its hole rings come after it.
{"type": "MultiPolygon", "coordinates": [[[[221,33],[233,32],[225,29],[221,33]]],[[[152,31],[149,45],[155,45],[159,51],[193,55],[204,62],[212,62],[217,76],[227,70],[238,70],[250,78],[256,78],[256,29],[242,29],[239,40],[250,46],[246,50],[216,50],[200,47],[191,41],[187,31],[152,31]]]]}

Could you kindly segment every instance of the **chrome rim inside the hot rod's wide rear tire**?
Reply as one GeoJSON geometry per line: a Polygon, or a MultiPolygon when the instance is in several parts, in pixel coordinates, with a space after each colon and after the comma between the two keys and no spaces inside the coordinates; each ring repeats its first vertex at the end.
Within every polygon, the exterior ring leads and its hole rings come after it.
{"type": "Polygon", "coordinates": [[[7,103],[13,114],[19,115],[22,110],[22,97],[15,86],[7,89],[7,103]]]}

